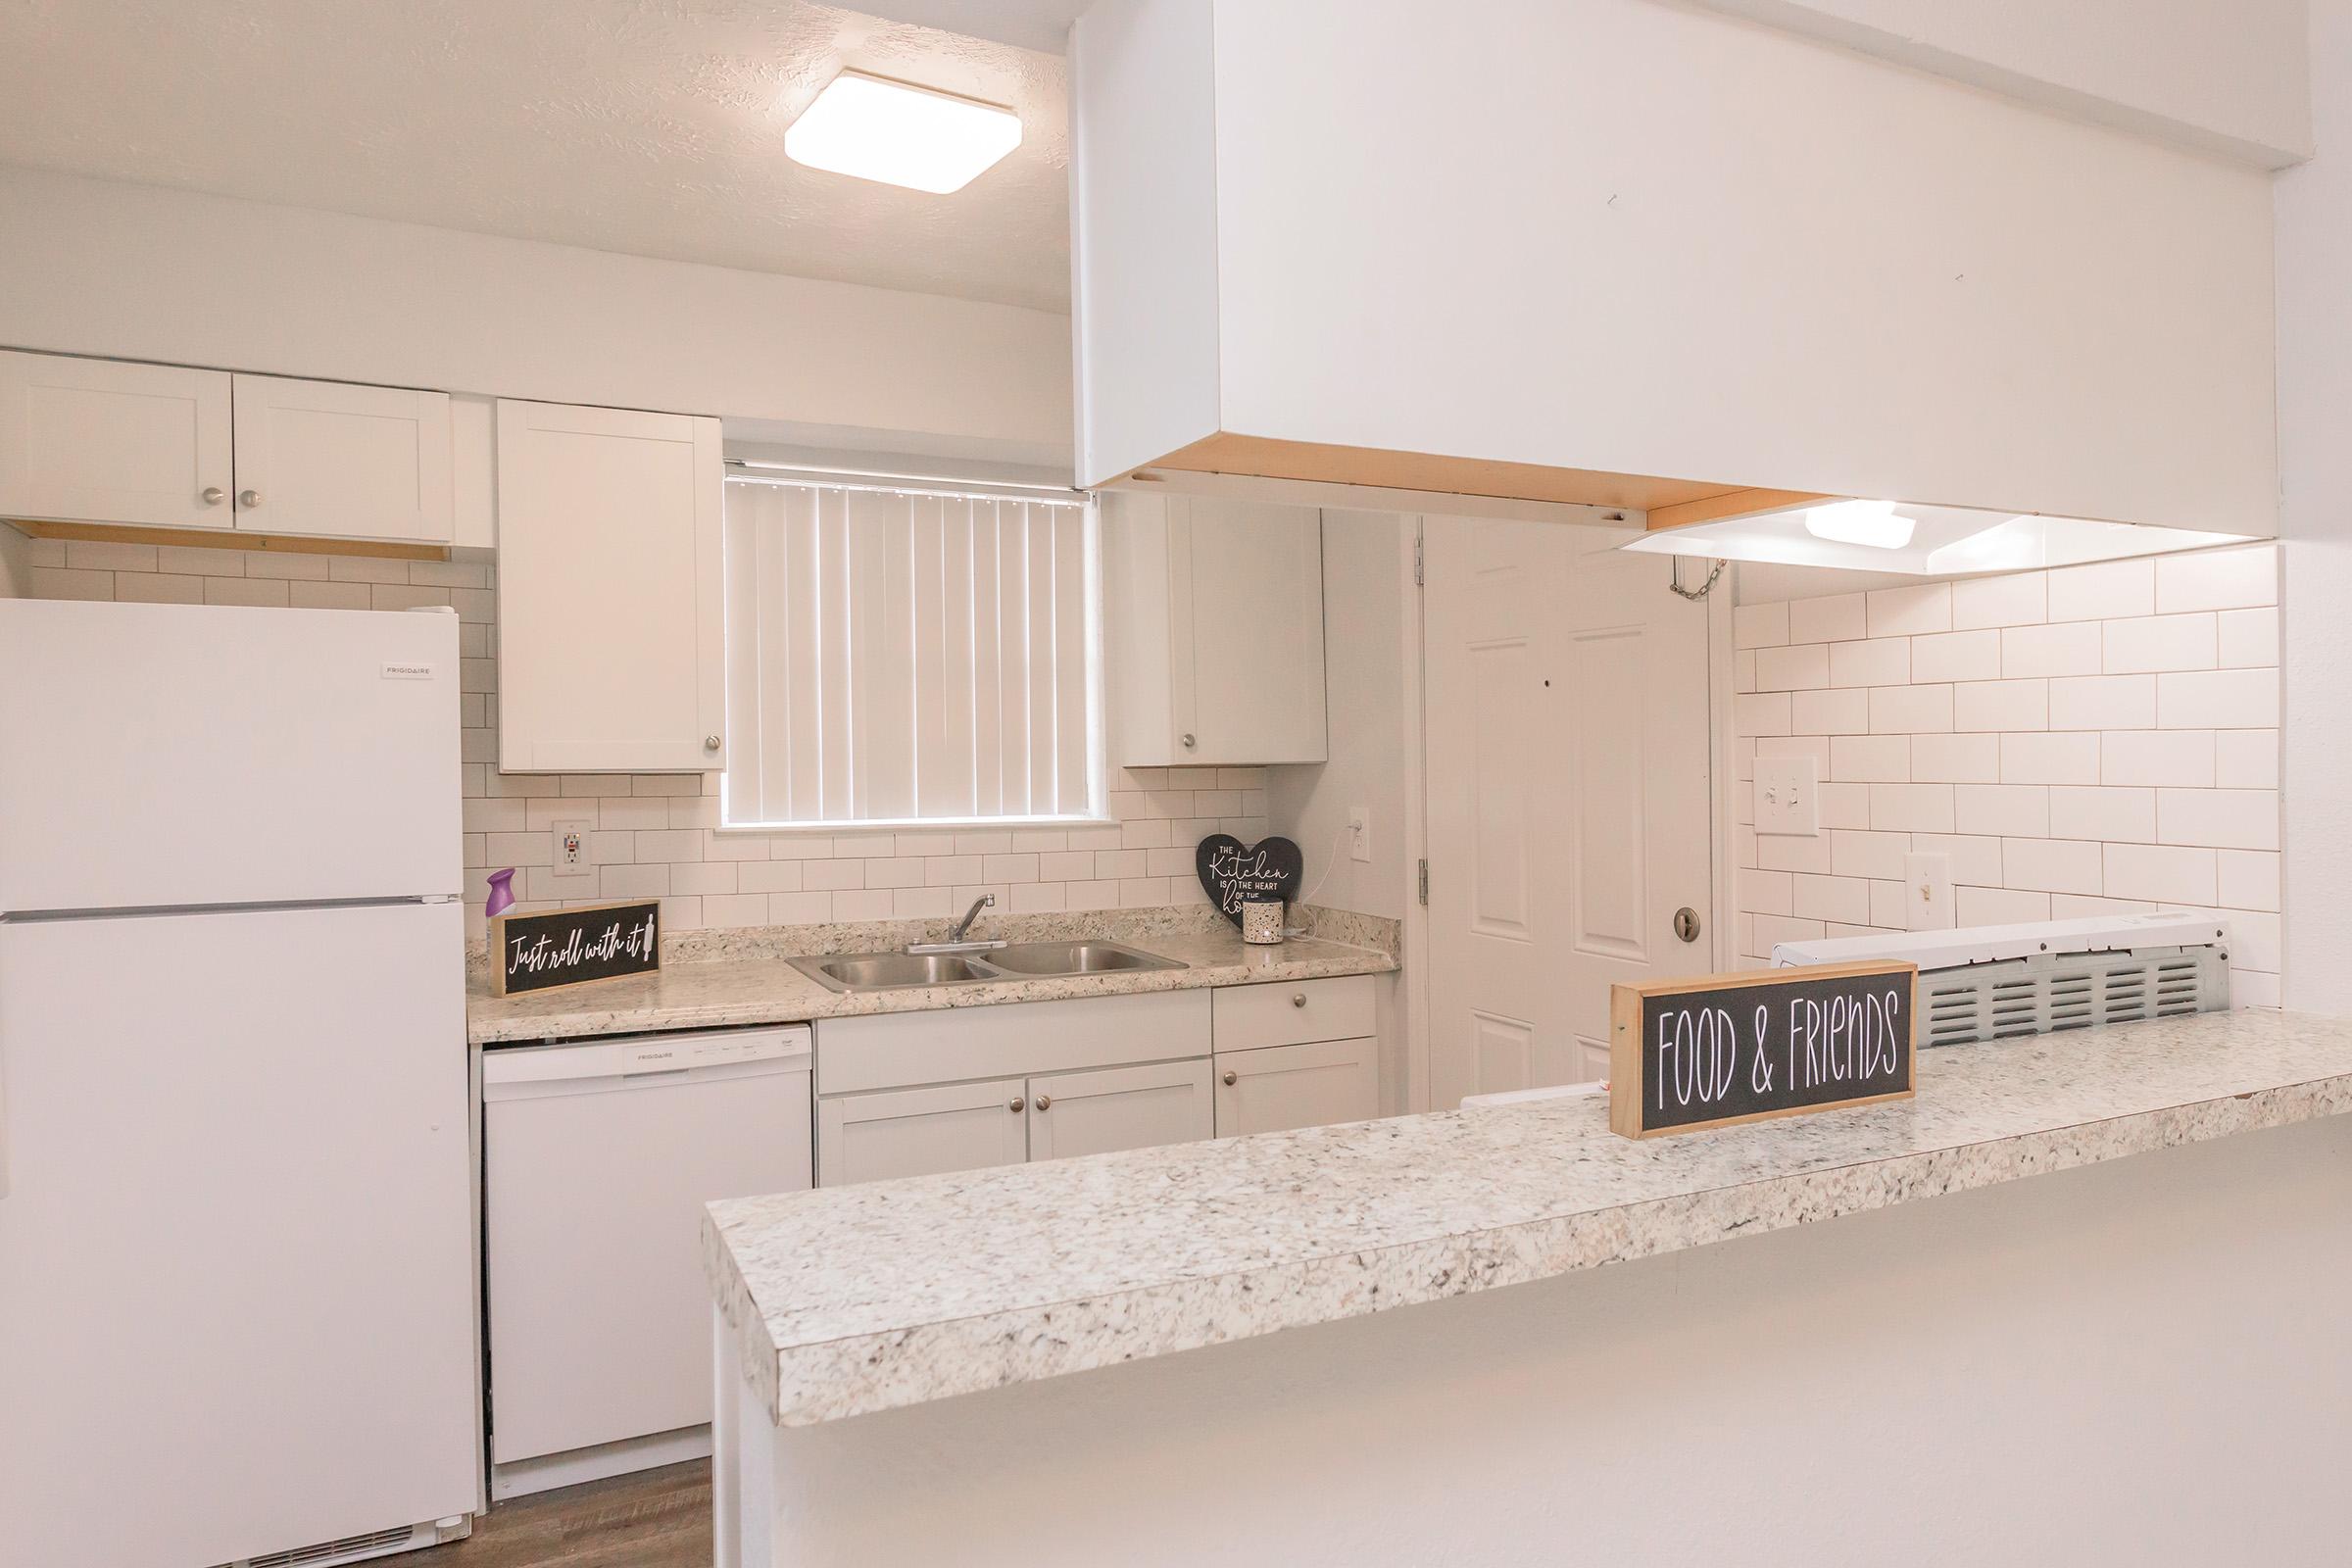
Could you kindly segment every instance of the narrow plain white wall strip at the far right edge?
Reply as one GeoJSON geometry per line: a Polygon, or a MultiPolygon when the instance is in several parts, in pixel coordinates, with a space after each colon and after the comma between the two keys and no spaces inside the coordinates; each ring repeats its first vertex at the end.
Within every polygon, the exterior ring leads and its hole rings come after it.
{"type": "Polygon", "coordinates": [[[2352,2],[2312,0],[2319,158],[2277,181],[2286,1004],[2352,1013],[2352,2]]]}

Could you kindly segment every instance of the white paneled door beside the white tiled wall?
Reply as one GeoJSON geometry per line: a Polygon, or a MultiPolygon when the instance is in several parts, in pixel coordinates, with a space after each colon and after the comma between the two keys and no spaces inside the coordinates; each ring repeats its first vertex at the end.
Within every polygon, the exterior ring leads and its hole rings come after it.
{"type": "Polygon", "coordinates": [[[1425,522],[1435,1107],[1602,1077],[1609,987],[1710,969],[1708,616],[1621,541],[1425,522]]]}

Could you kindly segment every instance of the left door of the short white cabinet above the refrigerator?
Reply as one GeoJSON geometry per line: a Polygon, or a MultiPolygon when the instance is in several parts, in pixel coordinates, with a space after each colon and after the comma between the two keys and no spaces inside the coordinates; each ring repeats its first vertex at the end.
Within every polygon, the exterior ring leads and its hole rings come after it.
{"type": "Polygon", "coordinates": [[[230,376],[0,353],[0,515],[235,527],[230,376]]]}

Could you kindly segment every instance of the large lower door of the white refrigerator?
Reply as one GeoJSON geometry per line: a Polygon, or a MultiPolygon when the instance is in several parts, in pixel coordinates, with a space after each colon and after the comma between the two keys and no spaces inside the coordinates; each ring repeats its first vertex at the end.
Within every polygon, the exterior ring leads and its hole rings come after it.
{"type": "Polygon", "coordinates": [[[0,924],[0,1559],[477,1507],[461,964],[454,903],[0,924]]]}

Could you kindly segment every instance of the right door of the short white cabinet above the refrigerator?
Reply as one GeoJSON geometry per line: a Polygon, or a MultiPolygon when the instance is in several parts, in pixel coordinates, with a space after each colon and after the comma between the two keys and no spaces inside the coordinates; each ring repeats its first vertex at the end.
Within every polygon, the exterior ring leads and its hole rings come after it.
{"type": "Polygon", "coordinates": [[[285,376],[230,381],[240,529],[452,541],[447,393],[285,376]]]}

